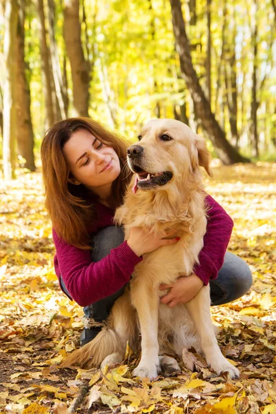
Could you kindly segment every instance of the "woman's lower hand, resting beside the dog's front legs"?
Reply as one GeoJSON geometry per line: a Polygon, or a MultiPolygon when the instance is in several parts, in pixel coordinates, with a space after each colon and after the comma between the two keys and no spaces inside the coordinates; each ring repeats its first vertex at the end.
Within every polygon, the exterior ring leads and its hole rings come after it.
{"type": "Polygon", "coordinates": [[[194,273],[188,277],[179,277],[175,284],[161,284],[159,286],[160,290],[170,288],[169,293],[161,298],[161,302],[167,304],[169,308],[174,308],[178,304],[184,304],[193,299],[203,285],[202,280],[194,273]]]}

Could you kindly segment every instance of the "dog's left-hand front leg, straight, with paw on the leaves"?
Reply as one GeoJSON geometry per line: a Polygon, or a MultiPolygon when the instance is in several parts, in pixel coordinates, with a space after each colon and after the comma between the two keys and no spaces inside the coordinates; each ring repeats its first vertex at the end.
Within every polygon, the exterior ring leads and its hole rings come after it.
{"type": "Polygon", "coordinates": [[[132,374],[140,378],[148,377],[151,380],[157,377],[159,372],[159,297],[148,288],[147,284],[144,282],[143,286],[138,280],[134,280],[131,285],[131,300],[137,309],[141,329],[141,360],[132,374]]]}

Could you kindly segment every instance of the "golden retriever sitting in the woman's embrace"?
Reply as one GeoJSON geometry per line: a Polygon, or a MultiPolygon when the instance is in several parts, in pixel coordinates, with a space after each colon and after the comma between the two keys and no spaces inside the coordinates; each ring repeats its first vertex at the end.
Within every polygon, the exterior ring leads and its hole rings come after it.
{"type": "Polygon", "coordinates": [[[227,371],[231,378],[239,377],[217,344],[209,286],[174,308],[160,301],[168,290],[159,290],[159,285],[173,284],[178,277],[193,273],[203,247],[208,212],[199,166],[211,175],[204,139],[179,121],[151,120],[139,142],[128,148],[128,165],[135,175],[115,215],[117,224],[124,225],[126,239],[136,226],[163,237],[174,234],[180,240],[143,255],[130,284],[112,307],[107,326],[63,366],[120,363],[127,341],[135,347],[140,332],[141,359],[132,373],[135,376],[153,379],[161,368],[167,374],[179,371],[177,361],[163,354],[173,351],[181,357],[184,348],[193,346],[204,353],[216,373],[227,371]]]}

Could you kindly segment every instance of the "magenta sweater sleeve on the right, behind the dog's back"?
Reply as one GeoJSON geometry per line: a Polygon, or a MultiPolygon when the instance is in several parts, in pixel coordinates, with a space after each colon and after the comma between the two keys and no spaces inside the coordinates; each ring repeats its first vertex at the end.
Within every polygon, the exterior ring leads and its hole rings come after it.
{"type": "Polygon", "coordinates": [[[199,264],[194,267],[194,273],[199,279],[208,284],[210,279],[216,279],[219,269],[224,264],[224,255],[233,230],[233,219],[219,206],[210,195],[206,196],[208,219],[204,235],[204,246],[199,253],[199,264]]]}

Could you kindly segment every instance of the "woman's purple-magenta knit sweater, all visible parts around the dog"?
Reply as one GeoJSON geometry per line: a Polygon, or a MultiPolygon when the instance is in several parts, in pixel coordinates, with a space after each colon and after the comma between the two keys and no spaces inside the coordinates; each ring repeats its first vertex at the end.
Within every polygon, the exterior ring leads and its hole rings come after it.
{"type": "MultiPolygon", "coordinates": [[[[199,264],[194,268],[195,274],[208,284],[215,279],[224,263],[224,255],[233,229],[233,220],[210,195],[206,196],[209,206],[207,231],[204,247],[199,253],[199,264]]],[[[101,228],[113,225],[115,210],[96,204],[99,219],[91,234],[101,228]]],[[[88,306],[103,297],[117,292],[130,281],[135,265],[141,262],[126,242],[113,248],[110,254],[99,262],[91,262],[90,250],[81,250],[67,244],[55,230],[52,231],[57,254],[54,264],[57,277],[62,275],[63,282],[72,299],[80,306],[88,306]]]]}

